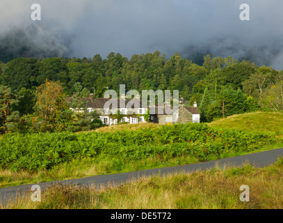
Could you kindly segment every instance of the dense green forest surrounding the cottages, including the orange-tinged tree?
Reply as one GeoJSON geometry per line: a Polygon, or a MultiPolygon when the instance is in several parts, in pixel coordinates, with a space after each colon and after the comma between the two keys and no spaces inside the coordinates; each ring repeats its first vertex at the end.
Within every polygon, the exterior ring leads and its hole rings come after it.
{"type": "Polygon", "coordinates": [[[257,66],[231,56],[204,56],[203,64],[175,53],[166,59],[156,51],[134,54],[131,59],[111,52],[106,59],[18,58],[0,62],[0,132],[56,132],[88,130],[101,126],[92,118],[98,114],[70,114],[64,100],[74,95],[76,105],[95,89],[104,92],[179,90],[188,105],[197,102],[201,121],[245,112],[283,110],[283,70],[257,66]],[[53,103],[53,104],[52,104],[53,103]],[[50,106],[56,109],[50,109],[50,106]],[[35,128],[35,123],[41,123],[35,128]],[[42,127],[43,125],[43,127],[42,127]]]}

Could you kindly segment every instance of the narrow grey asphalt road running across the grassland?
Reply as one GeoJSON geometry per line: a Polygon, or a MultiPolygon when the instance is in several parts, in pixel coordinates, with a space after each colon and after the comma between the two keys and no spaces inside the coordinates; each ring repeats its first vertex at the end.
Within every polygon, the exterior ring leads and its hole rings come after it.
{"type": "MultiPolygon", "coordinates": [[[[133,171],[122,174],[108,174],[99,176],[90,176],[86,178],[78,178],[73,180],[58,180],[54,182],[38,183],[41,190],[47,190],[51,185],[83,185],[83,186],[95,186],[105,187],[108,185],[120,185],[121,183],[127,183],[129,180],[137,180],[143,176],[165,175],[175,173],[192,173],[194,171],[203,171],[214,167],[242,167],[243,164],[250,163],[254,167],[266,167],[277,161],[277,158],[283,157],[283,148],[278,148],[270,151],[264,151],[259,153],[252,153],[248,155],[241,155],[236,157],[229,157],[222,160],[213,160],[209,162],[200,162],[197,164],[187,164],[178,167],[163,167],[156,169],[147,169],[143,171],[133,171]]],[[[8,199],[14,199],[15,196],[22,196],[22,194],[31,191],[30,185],[19,185],[15,187],[0,188],[0,201],[1,203],[8,199]]]]}

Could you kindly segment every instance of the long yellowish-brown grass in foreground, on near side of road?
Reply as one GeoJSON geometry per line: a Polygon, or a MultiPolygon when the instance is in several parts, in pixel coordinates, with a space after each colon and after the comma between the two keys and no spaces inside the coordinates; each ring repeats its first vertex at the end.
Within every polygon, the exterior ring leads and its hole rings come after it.
{"type": "Polygon", "coordinates": [[[118,187],[56,185],[40,202],[27,195],[0,208],[29,209],[282,209],[283,159],[270,167],[210,169],[193,174],[143,178],[118,187]],[[248,185],[250,201],[241,201],[241,185],[248,185]]]}

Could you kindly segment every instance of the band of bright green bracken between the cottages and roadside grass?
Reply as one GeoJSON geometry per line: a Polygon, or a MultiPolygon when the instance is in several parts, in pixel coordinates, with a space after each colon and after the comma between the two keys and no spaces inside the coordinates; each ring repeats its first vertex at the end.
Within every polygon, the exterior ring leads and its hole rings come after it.
{"type": "Polygon", "coordinates": [[[203,162],[254,151],[277,140],[273,133],[209,128],[199,123],[106,133],[6,134],[0,140],[0,167],[38,171],[86,157],[114,159],[118,169],[149,157],[159,157],[161,162],[194,157],[203,162]]]}

